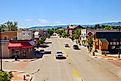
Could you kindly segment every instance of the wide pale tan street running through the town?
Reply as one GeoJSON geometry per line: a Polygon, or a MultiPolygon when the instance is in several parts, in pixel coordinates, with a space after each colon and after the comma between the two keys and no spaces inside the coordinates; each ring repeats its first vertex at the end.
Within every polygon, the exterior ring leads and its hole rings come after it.
{"type": "Polygon", "coordinates": [[[51,54],[45,54],[32,62],[4,62],[4,69],[32,74],[32,81],[121,81],[109,69],[115,66],[105,60],[90,57],[84,47],[74,50],[70,39],[51,37],[46,41],[52,42],[45,48],[51,50],[51,54]],[[69,44],[70,48],[65,48],[64,44],[69,44]],[[57,50],[62,50],[66,59],[56,59],[57,50]]]}

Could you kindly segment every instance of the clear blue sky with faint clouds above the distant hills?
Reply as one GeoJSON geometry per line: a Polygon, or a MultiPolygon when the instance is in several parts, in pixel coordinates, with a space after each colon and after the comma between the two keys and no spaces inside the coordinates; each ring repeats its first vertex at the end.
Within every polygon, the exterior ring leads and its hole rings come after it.
{"type": "Polygon", "coordinates": [[[121,0],[0,0],[0,24],[19,27],[121,21],[121,0]]]}

